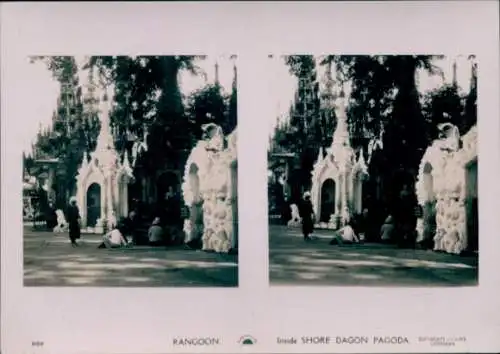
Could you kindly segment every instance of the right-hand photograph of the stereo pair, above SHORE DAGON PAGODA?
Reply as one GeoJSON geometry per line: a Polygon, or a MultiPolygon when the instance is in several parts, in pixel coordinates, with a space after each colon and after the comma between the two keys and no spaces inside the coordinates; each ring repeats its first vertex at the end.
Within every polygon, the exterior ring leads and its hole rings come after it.
{"type": "Polygon", "coordinates": [[[477,285],[476,56],[269,68],[270,284],[477,285]]]}

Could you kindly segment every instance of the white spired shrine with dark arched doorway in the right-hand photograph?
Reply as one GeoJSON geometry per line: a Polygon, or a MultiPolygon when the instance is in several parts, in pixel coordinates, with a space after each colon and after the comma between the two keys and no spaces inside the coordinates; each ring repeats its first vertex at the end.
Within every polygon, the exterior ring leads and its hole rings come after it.
{"type": "MultiPolygon", "coordinates": [[[[331,90],[331,85],[327,85],[327,90],[331,90]]],[[[368,168],[363,151],[356,158],[351,147],[344,96],[342,89],[335,109],[337,127],[332,145],[326,149],[325,155],[320,148],[312,171],[311,201],[316,221],[320,221],[316,226],[321,228],[336,229],[349,214],[361,213],[363,207],[362,188],[368,168]],[[322,217],[325,213],[328,214],[327,220],[322,217]]]]}

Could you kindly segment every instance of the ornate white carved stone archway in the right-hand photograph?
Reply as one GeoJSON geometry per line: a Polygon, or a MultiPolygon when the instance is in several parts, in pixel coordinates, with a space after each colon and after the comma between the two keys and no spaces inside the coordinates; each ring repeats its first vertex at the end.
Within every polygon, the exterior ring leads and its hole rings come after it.
{"type": "Polygon", "coordinates": [[[439,138],[424,153],[415,185],[423,209],[417,231],[419,240],[433,238],[434,250],[459,254],[468,242],[466,201],[474,189],[468,186],[477,178],[477,170],[468,169],[477,161],[477,127],[462,138],[451,124],[438,128],[439,138]]]}

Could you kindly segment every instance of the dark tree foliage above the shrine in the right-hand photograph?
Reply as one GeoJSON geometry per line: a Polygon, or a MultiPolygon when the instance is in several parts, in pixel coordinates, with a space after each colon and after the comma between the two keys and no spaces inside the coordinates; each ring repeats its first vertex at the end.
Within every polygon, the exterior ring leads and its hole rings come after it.
{"type": "MultiPolygon", "coordinates": [[[[289,125],[276,128],[273,145],[287,145],[290,151],[298,153],[304,160],[308,155],[304,153],[304,147],[325,145],[326,141],[326,145],[330,144],[331,132],[335,127],[334,116],[318,114],[314,110],[311,110],[314,113],[310,117],[297,113],[301,113],[300,107],[303,106],[301,82],[307,81],[304,80],[307,78],[316,81],[315,62],[321,66],[332,65],[336,69],[337,86],[345,82],[350,84],[347,117],[351,143],[355,149],[367,151],[370,141],[383,137],[383,150],[372,159],[372,164],[377,166],[371,166],[370,170],[377,172],[377,178],[382,178],[382,184],[388,188],[384,193],[395,195],[402,183],[413,183],[424,150],[435,137],[433,127],[443,120],[443,112],[447,112],[455,124],[460,123],[457,125],[461,131],[467,130],[475,122],[473,84],[465,107],[465,112],[469,113],[465,115],[461,97],[452,87],[444,87],[427,95],[421,105],[417,73],[426,71],[431,75],[442,76],[442,71],[435,65],[435,60],[440,57],[327,55],[318,58],[318,61],[312,56],[286,57],[290,73],[299,80],[299,93],[290,110],[289,125]]],[[[313,95],[317,95],[314,90],[313,95]]],[[[312,166],[303,163],[302,167],[307,167],[304,178],[310,179],[312,166]]]]}

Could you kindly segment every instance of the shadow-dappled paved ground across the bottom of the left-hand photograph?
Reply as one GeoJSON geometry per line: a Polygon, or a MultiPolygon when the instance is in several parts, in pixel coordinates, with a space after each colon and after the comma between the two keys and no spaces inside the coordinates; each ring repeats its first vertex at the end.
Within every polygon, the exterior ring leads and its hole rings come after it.
{"type": "Polygon", "coordinates": [[[182,247],[97,249],[98,235],[82,235],[80,247],[67,234],[24,229],[25,286],[236,287],[237,256],[182,247]]]}

